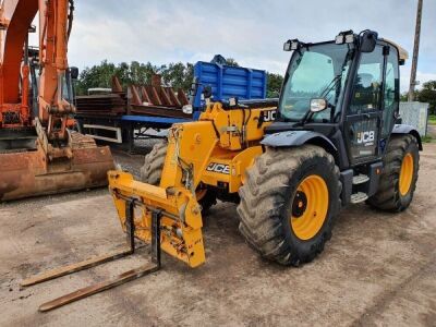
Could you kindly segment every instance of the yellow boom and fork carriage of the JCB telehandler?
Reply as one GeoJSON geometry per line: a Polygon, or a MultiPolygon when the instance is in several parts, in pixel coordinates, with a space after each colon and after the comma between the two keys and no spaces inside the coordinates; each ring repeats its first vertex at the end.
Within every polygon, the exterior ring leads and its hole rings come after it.
{"type": "Polygon", "coordinates": [[[276,107],[225,110],[215,102],[198,121],[174,124],[159,186],[135,181],[128,172],[109,171],[109,190],[123,229],[126,203],[134,199],[135,237],[150,242],[152,213],[160,210],[161,249],[191,267],[203,264],[202,208],[195,190],[202,183],[238,192],[245,170],[263,153],[259,141],[275,111],[276,107]]]}

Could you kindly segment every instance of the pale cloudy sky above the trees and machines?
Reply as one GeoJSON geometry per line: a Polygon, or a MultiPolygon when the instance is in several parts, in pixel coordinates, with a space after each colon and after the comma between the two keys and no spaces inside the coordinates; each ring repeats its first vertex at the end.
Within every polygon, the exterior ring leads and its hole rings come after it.
{"type": "MultiPolygon", "coordinates": [[[[347,29],[374,29],[413,51],[417,0],[75,0],[70,65],[111,62],[209,61],[284,73],[283,41],[334,39],[347,29]]],[[[409,87],[411,60],[401,68],[409,87]]],[[[417,81],[436,80],[436,0],[424,0],[417,81]]]]}

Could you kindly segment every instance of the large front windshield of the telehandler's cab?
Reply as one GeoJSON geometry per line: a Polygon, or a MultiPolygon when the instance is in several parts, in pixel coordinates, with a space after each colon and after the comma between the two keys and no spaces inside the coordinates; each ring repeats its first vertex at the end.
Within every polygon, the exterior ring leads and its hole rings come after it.
{"type": "Polygon", "coordinates": [[[311,99],[325,98],[329,107],[315,113],[312,120],[330,122],[331,110],[335,110],[335,116],[340,110],[337,104],[348,76],[351,52],[349,45],[335,43],[312,45],[295,52],[279,104],[282,119],[301,121],[310,110],[311,99]]]}

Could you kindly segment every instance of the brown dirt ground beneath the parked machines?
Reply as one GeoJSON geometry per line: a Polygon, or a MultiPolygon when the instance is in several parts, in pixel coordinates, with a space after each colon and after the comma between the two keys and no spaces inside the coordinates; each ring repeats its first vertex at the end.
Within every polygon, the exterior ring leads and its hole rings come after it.
{"type": "MultiPolygon", "coordinates": [[[[261,259],[238,232],[235,206],[205,219],[207,263],[164,254],[164,269],[41,314],[43,302],[140,266],[132,258],[21,289],[46,268],[124,242],[106,190],[0,206],[0,326],[436,325],[436,144],[426,145],[412,206],[387,215],[343,210],[324,253],[302,268],[261,259]]],[[[141,159],[119,158],[137,171],[141,159]]]]}

